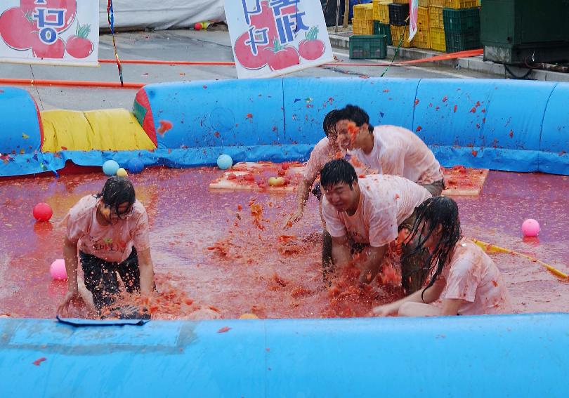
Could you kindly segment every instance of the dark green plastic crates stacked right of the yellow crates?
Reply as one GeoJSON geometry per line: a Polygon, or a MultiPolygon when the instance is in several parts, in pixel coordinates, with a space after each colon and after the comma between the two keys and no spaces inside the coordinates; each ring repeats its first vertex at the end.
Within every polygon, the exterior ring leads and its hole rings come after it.
{"type": "MultiPolygon", "coordinates": [[[[448,5],[476,4],[476,0],[446,0],[448,5]]],[[[447,53],[480,48],[480,7],[444,8],[447,53]]]]}

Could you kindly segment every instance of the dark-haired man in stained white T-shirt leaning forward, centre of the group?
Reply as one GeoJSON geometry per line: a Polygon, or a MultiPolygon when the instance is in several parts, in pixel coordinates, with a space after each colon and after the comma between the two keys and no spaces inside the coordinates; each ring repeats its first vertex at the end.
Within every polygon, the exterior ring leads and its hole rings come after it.
{"type": "MultiPolygon", "coordinates": [[[[353,166],[344,159],[329,161],[322,168],[320,183],[334,266],[343,267],[353,254],[366,251],[360,283],[369,284],[381,268],[388,244],[397,239],[401,229],[412,229],[415,209],[431,194],[395,175],[367,175],[358,180],[353,166]]],[[[404,245],[403,254],[412,249],[412,244],[404,245]]],[[[426,273],[422,272],[421,256],[406,258],[401,264],[401,284],[410,294],[424,285],[426,273]]]]}

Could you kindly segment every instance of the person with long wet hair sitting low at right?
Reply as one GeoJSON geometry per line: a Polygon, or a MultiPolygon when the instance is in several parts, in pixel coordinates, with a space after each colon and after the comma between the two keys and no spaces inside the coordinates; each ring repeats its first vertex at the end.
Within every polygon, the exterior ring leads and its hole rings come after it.
{"type": "Polygon", "coordinates": [[[432,270],[426,288],[395,303],[375,307],[377,315],[407,317],[495,314],[509,310],[509,295],[495,263],[480,246],[461,237],[458,206],[447,197],[434,197],[417,210],[410,238],[415,250],[428,248],[424,269],[432,270]],[[443,307],[430,303],[443,298],[443,307]]]}

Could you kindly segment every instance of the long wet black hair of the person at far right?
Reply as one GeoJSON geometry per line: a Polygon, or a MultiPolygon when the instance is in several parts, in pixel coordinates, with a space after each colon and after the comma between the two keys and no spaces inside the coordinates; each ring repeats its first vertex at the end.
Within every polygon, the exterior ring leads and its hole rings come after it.
{"type": "Polygon", "coordinates": [[[422,268],[422,270],[429,270],[429,272],[433,269],[435,271],[429,281],[429,285],[421,293],[421,299],[426,289],[433,286],[440,273],[443,272],[443,267],[447,263],[450,251],[452,251],[452,248],[454,248],[454,245],[457,244],[457,241],[462,236],[457,202],[449,197],[432,197],[419,205],[417,208],[417,219],[406,240],[407,242],[412,242],[415,237],[418,237],[417,246],[401,261],[405,261],[405,258],[413,256],[415,253],[420,253],[424,249],[425,241],[429,239],[439,225],[442,228],[440,230],[440,239],[422,268]],[[427,230],[421,231],[419,230],[420,228],[426,228],[427,230]]]}

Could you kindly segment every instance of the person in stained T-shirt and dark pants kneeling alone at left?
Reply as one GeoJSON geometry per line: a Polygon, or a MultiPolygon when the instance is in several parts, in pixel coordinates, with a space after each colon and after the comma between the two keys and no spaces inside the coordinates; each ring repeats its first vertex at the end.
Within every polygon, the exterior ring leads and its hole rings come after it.
{"type": "MultiPolygon", "coordinates": [[[[109,178],[100,194],[80,199],[63,223],[67,225],[63,244],[67,294],[58,314],[69,310],[70,304],[90,303],[91,295],[98,314],[103,309],[121,312],[110,308],[119,293],[117,273],[129,293],[150,294],[154,290],[148,215],[136,200],[130,180],[109,178]],[[85,287],[91,295],[79,291],[77,251],[85,287]]],[[[128,312],[131,313],[119,317],[148,317],[132,313],[132,308],[128,312]]]]}

